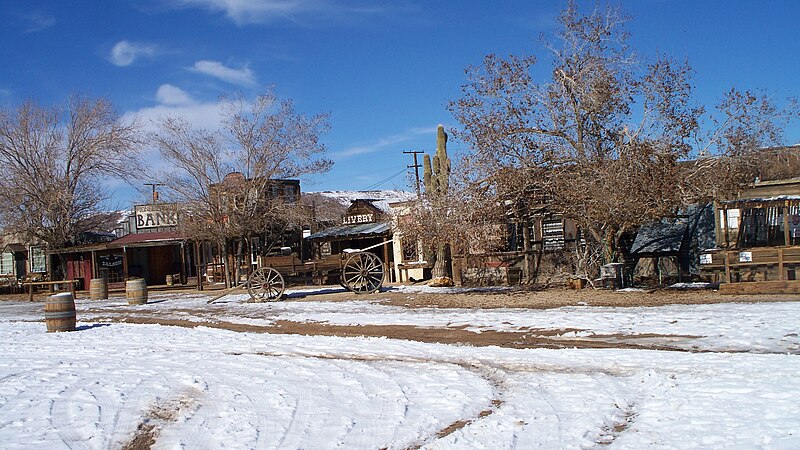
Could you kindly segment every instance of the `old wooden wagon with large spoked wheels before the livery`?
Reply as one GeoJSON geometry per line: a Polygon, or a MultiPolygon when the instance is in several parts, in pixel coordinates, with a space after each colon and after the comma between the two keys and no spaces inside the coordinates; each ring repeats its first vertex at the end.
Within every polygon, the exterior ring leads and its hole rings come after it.
{"type": "Polygon", "coordinates": [[[307,282],[321,277],[338,277],[345,289],[369,294],[383,285],[383,262],[376,254],[364,250],[314,261],[301,261],[294,254],[266,257],[264,266],[247,279],[247,292],[253,301],[275,301],[283,296],[287,282],[307,282]]]}

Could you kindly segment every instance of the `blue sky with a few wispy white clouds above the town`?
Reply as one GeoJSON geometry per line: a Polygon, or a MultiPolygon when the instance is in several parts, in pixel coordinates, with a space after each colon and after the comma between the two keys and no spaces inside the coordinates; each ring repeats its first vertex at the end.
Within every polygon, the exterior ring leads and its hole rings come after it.
{"type": "MultiPolygon", "coordinates": [[[[579,2],[592,8],[592,2],[579,2]]],[[[641,0],[631,45],[688,58],[701,102],[725,90],[800,90],[798,1],[641,0]]],[[[0,0],[0,104],[106,96],[147,121],[217,120],[217,98],[274,86],[305,114],[329,112],[335,161],[303,190],[409,189],[404,150],[433,152],[437,124],[483,55],[534,54],[564,2],[323,0],[0,0]]],[[[545,61],[542,61],[545,62],[545,61]]],[[[788,143],[800,142],[789,129],[788,143]]],[[[451,153],[463,151],[451,142],[451,153]]],[[[117,200],[129,201],[120,188],[117,200]]]]}

